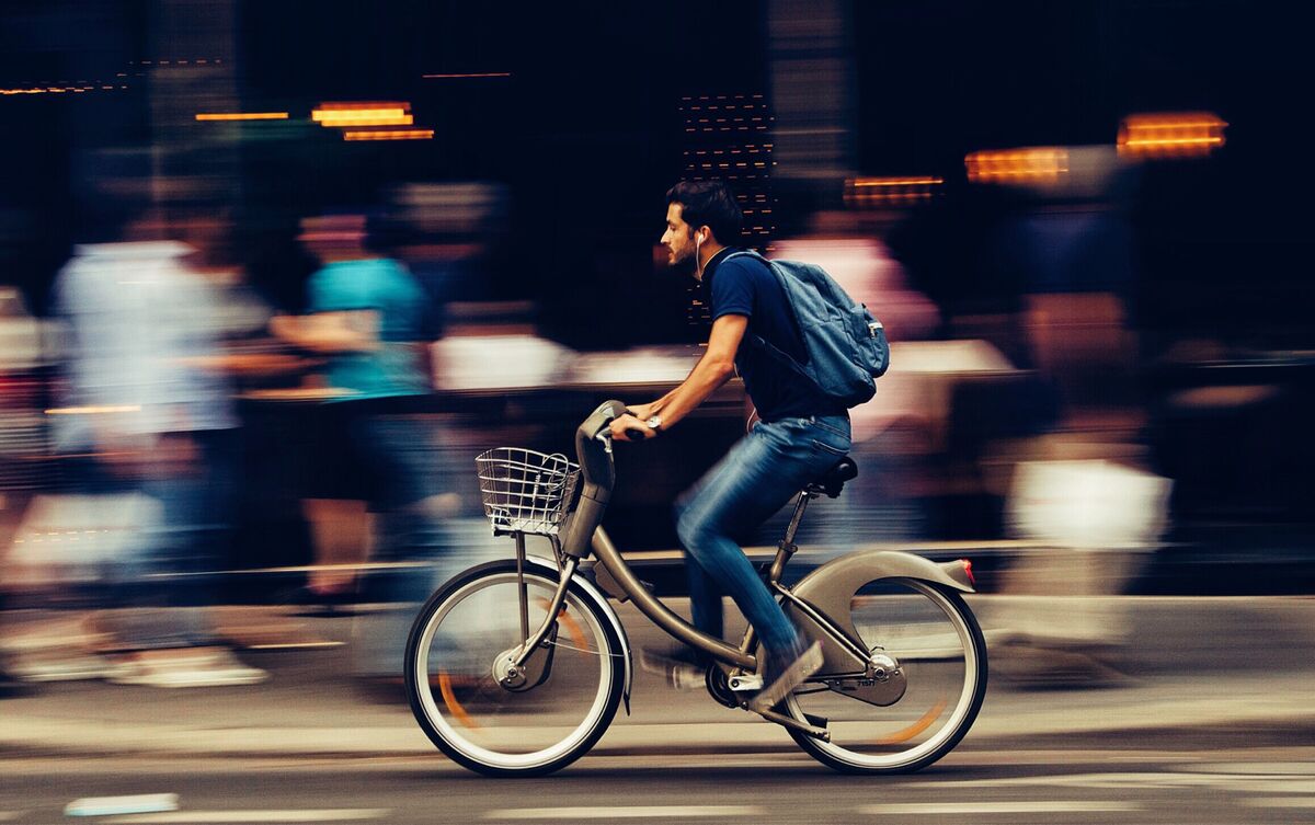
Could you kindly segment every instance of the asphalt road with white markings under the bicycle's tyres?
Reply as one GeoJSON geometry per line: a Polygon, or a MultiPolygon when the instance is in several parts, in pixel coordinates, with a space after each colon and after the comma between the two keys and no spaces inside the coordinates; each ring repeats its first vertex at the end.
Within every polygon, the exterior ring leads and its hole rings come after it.
{"type": "Polygon", "coordinates": [[[484,779],[437,754],[0,761],[0,821],[67,822],[79,811],[100,814],[83,821],[112,825],[1315,822],[1315,747],[1243,730],[1164,749],[1099,738],[965,746],[920,774],[893,778],[843,776],[796,753],[585,757],[558,775],[517,780],[484,779]],[[126,813],[153,801],[178,809],[126,813]]]}

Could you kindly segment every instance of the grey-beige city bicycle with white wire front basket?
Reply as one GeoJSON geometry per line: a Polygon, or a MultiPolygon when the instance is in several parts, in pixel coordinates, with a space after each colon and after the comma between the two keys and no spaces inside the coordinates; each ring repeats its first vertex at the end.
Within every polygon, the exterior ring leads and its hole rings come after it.
{"type": "MultiPolygon", "coordinates": [[[[752,627],[738,646],[701,633],[646,589],[602,529],[615,483],[609,423],[622,412],[625,405],[609,401],[580,424],[579,465],[523,448],[476,461],[485,514],[494,533],[515,540],[515,558],[439,587],[412,627],[405,659],[417,723],[467,769],[492,776],[560,770],[598,741],[622,700],[629,713],[630,644],[608,596],[633,600],[668,635],[709,654],[706,687],[718,703],[748,711],[761,687],[752,627]],[[526,554],[527,535],[548,539],[555,564],[526,554]],[[586,569],[590,553],[597,562],[586,569]]],[[[809,502],[839,495],[856,474],[846,457],[800,491],[767,571],[792,621],[822,642],[822,669],[775,708],[751,712],[835,770],[911,772],[949,753],[976,720],[986,642],[961,596],[974,591],[967,560],[864,550],[793,587],[781,583],[809,502]]]]}

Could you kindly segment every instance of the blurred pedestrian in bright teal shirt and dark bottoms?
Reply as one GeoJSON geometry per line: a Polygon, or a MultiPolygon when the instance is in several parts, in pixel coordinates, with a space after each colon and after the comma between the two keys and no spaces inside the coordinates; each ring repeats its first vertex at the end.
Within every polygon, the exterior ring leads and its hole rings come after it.
{"type": "Polygon", "coordinates": [[[326,215],[302,222],[301,242],[322,267],[308,285],[308,313],[280,315],[271,331],[326,359],[323,381],[330,441],[317,464],[317,483],[330,493],[370,501],[379,515],[375,562],[358,598],[387,603],[362,617],[358,674],[398,680],[416,611],[442,583],[443,519],[452,511],[439,472],[437,434],[413,403],[429,394],[425,342],[427,297],[406,268],[367,247],[364,215],[326,215]]]}

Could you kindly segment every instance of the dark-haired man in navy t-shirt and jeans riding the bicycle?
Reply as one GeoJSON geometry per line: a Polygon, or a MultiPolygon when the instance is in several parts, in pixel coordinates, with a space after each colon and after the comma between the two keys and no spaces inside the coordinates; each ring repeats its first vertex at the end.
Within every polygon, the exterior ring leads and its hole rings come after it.
{"type": "Polygon", "coordinates": [[[750,703],[775,707],[822,665],[818,642],[786,619],[781,606],[735,541],[781,508],[849,449],[849,416],[771,348],[796,363],[807,355],[786,294],[767,264],[727,246],[743,214],[722,181],[681,181],[667,192],[668,264],[693,260],[713,328],[689,377],[658,401],[630,405],[611,423],[623,441],[651,439],[689,415],[736,372],[756,423],[676,503],[676,532],[685,548],[694,625],[723,635],[722,594],[753,625],[765,649],[763,690],[750,703]]]}

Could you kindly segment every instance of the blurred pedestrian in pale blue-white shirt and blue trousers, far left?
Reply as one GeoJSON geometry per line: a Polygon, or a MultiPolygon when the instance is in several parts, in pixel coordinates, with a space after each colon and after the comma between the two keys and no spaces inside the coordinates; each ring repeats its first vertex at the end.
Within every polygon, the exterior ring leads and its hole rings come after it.
{"type": "MultiPolygon", "coordinates": [[[[79,246],[55,284],[66,323],[55,444],[84,495],[145,497],[158,519],[110,560],[112,680],[156,687],[250,684],[210,625],[213,571],[226,558],[237,457],[229,386],[217,355],[214,294],[192,247],[162,221],[132,221],[124,240],[79,246]]],[[[143,508],[146,512],[147,508],[143,508]]]]}

